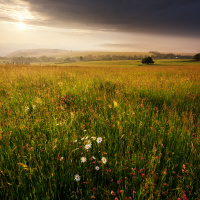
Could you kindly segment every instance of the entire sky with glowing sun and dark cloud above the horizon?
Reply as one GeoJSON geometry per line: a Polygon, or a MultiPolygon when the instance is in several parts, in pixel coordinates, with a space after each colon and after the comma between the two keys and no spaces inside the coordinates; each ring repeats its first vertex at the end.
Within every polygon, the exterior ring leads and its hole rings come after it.
{"type": "Polygon", "coordinates": [[[0,55],[18,49],[200,52],[200,0],[0,0],[0,55]]]}

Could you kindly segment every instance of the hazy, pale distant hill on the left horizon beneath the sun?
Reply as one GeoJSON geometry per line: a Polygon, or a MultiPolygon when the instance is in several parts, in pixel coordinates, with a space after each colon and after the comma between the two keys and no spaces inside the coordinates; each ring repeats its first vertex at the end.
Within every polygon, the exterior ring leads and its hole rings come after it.
{"type": "Polygon", "coordinates": [[[62,49],[23,49],[14,51],[7,57],[40,57],[40,56],[59,56],[60,54],[68,53],[68,50],[62,49]]]}

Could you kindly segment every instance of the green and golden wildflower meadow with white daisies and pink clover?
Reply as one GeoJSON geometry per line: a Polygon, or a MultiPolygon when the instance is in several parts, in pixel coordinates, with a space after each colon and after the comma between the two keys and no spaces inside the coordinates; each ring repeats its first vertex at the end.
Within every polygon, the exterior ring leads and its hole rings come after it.
{"type": "Polygon", "coordinates": [[[200,63],[0,65],[0,199],[200,199],[200,63]]]}

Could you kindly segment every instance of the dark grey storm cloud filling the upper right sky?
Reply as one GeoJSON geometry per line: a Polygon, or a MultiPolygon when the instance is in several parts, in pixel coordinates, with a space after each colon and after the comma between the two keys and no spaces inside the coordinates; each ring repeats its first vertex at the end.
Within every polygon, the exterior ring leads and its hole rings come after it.
{"type": "Polygon", "coordinates": [[[52,26],[200,35],[200,0],[22,0],[52,26]]]}

